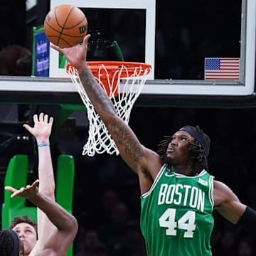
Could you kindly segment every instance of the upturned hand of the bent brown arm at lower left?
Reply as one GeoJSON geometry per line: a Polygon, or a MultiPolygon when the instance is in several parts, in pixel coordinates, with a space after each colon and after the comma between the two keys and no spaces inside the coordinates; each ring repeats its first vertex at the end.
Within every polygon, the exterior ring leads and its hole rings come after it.
{"type": "Polygon", "coordinates": [[[16,189],[11,186],[6,186],[4,189],[12,193],[11,198],[20,196],[21,198],[33,200],[33,198],[36,197],[36,193],[38,193],[38,188],[37,188],[38,183],[39,183],[39,180],[36,180],[33,182],[32,185],[27,185],[26,188],[16,189]]]}

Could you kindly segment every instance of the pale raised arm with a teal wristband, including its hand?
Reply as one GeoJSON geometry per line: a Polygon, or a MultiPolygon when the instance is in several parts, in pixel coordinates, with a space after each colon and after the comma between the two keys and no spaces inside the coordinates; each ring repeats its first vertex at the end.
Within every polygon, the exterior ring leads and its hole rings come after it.
{"type": "MultiPolygon", "coordinates": [[[[38,146],[38,176],[39,176],[39,192],[48,196],[55,201],[55,181],[53,174],[53,164],[50,156],[50,133],[53,126],[53,117],[48,118],[47,114],[34,114],[34,127],[23,124],[35,138],[38,146]]],[[[38,241],[31,252],[31,256],[40,251],[50,233],[55,229],[53,223],[50,222],[45,213],[40,208],[37,214],[38,223],[38,241]]]]}

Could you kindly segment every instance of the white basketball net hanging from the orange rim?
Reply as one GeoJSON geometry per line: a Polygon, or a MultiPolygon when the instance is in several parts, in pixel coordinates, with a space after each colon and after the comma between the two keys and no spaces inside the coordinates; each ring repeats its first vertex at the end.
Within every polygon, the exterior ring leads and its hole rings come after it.
{"type": "MultiPolygon", "coordinates": [[[[139,63],[138,63],[139,64],[139,63]]],[[[78,90],[82,102],[87,108],[87,118],[89,120],[89,137],[87,143],[83,147],[82,155],[87,154],[87,156],[94,156],[95,153],[102,154],[107,152],[107,154],[119,154],[114,140],[112,139],[107,127],[100,119],[100,115],[97,114],[95,108],[90,102],[84,87],[80,81],[77,70],[72,66],[67,70],[70,74],[70,78],[73,80],[76,89],[78,90]]],[[[114,72],[112,80],[108,75],[105,65],[100,65],[98,77],[100,78],[102,73],[107,74],[107,81],[110,85],[110,100],[117,111],[118,116],[128,124],[129,117],[131,114],[134,102],[137,97],[142,92],[142,87],[146,81],[147,76],[150,73],[150,68],[143,69],[138,66],[134,69],[134,73],[129,75],[127,67],[122,65],[122,68],[114,72]],[[121,74],[126,73],[126,78],[121,78],[121,74]],[[117,78],[117,86],[114,88],[114,78],[117,78]],[[114,92],[118,90],[117,97],[114,97],[114,92]]],[[[96,78],[97,82],[102,85],[102,81],[96,78]]],[[[103,86],[105,92],[106,89],[103,86]]]]}

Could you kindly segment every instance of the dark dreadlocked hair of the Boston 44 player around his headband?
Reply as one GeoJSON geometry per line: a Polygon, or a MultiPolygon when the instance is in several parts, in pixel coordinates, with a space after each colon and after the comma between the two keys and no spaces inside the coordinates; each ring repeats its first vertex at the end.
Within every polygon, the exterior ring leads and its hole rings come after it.
{"type": "MultiPolygon", "coordinates": [[[[210,148],[210,138],[200,127],[192,127],[190,125],[187,125],[186,127],[191,127],[199,132],[205,139],[208,148],[210,148]]],[[[166,163],[166,150],[172,139],[173,137],[171,136],[165,136],[159,143],[159,150],[157,152],[164,163],[166,163]]],[[[203,150],[203,146],[198,140],[194,139],[191,142],[188,142],[188,157],[191,159],[191,164],[193,165],[193,170],[195,170],[195,172],[201,172],[203,169],[209,171],[207,156],[203,150]]]]}

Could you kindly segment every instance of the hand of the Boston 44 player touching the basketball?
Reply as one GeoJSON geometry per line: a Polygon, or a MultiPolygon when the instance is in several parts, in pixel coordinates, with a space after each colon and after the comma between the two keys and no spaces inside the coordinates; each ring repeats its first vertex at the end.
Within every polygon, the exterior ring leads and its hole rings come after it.
{"type": "Polygon", "coordinates": [[[50,47],[63,53],[68,62],[78,70],[78,73],[82,73],[86,67],[87,43],[89,38],[90,34],[87,34],[82,41],[82,45],[78,44],[69,48],[59,48],[51,44],[50,47]]]}

